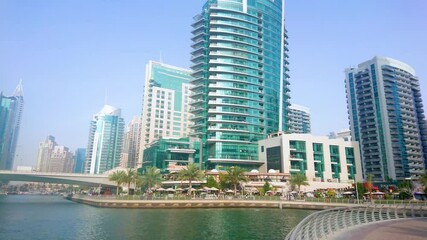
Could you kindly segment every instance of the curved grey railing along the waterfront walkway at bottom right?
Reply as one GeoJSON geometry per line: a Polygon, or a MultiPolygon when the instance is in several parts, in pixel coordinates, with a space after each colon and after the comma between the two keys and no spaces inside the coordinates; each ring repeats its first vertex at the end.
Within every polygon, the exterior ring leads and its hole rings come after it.
{"type": "Polygon", "coordinates": [[[427,208],[415,205],[369,205],[327,209],[304,218],[285,239],[329,239],[328,236],[350,227],[416,217],[427,217],[427,208]]]}

